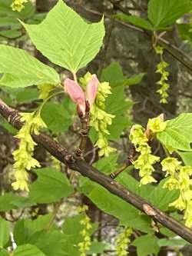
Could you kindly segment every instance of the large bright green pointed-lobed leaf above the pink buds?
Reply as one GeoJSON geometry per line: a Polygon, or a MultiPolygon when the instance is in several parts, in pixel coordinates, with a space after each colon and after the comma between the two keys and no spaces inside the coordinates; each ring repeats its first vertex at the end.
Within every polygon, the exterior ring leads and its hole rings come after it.
{"type": "Polygon", "coordinates": [[[91,62],[104,38],[103,19],[88,24],[61,0],[40,25],[23,25],[43,55],[72,72],[91,62]]]}

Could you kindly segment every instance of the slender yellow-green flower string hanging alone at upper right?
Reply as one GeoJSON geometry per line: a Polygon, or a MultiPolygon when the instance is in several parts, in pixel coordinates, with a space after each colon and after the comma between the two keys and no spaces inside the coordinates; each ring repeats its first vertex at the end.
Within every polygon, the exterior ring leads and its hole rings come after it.
{"type": "Polygon", "coordinates": [[[157,85],[160,85],[161,88],[158,89],[157,92],[161,95],[160,103],[165,104],[167,103],[167,97],[169,96],[167,94],[167,90],[170,87],[169,84],[167,84],[169,72],[166,71],[165,68],[167,68],[169,64],[167,62],[164,62],[163,59],[164,48],[162,48],[161,46],[156,46],[154,49],[157,54],[161,55],[161,62],[157,64],[156,70],[156,73],[161,74],[161,79],[157,81],[157,85]]]}

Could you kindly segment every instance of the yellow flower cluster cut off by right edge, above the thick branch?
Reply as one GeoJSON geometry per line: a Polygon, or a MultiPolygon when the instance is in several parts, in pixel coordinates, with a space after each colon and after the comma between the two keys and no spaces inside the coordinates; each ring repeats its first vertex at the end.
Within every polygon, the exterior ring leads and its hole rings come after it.
{"type": "Polygon", "coordinates": [[[182,166],[177,158],[165,158],[161,161],[162,170],[166,171],[169,178],[164,184],[164,188],[170,190],[178,189],[180,196],[170,204],[180,211],[184,210],[184,220],[188,228],[192,226],[192,167],[182,166]]]}

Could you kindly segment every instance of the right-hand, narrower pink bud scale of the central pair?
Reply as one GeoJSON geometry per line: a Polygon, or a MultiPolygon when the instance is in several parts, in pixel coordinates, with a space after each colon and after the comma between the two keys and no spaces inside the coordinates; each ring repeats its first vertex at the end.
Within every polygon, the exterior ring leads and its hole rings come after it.
{"type": "Polygon", "coordinates": [[[85,91],[85,98],[86,100],[88,100],[90,107],[94,104],[94,100],[98,92],[98,85],[99,81],[97,75],[92,75],[91,80],[89,81],[85,91]]]}

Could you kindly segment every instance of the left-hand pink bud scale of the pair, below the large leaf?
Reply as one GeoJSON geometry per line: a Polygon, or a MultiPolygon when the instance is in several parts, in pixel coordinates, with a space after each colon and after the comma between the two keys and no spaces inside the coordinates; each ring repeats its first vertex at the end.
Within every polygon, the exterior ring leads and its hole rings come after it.
{"type": "Polygon", "coordinates": [[[64,81],[65,91],[70,96],[71,100],[78,105],[78,109],[85,114],[85,99],[83,89],[74,81],[66,78],[64,81]]]}

